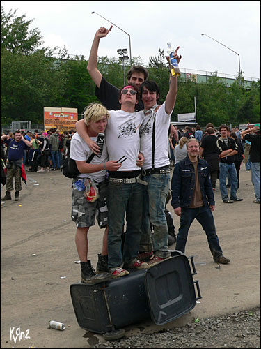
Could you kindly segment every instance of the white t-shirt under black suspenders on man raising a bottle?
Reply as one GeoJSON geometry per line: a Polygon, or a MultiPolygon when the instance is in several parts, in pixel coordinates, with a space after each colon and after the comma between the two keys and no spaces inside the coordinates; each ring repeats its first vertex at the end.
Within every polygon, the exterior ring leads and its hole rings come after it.
{"type": "MultiPolygon", "coordinates": [[[[152,168],[152,126],[154,118],[151,117],[150,119],[150,116],[151,114],[145,116],[141,125],[140,151],[145,158],[143,170],[152,168]]],[[[168,128],[171,122],[171,114],[166,113],[165,102],[157,110],[155,120],[155,168],[161,168],[170,165],[168,158],[168,128]]]]}

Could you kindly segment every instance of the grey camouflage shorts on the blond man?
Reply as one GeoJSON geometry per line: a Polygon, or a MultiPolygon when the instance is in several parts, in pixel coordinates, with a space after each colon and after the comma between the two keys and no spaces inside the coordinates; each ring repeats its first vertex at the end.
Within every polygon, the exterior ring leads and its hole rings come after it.
{"type": "Polygon", "coordinates": [[[107,184],[103,181],[98,186],[99,198],[95,202],[88,202],[84,191],[72,188],[72,221],[77,228],[86,228],[95,225],[95,217],[99,227],[106,228],[108,223],[107,184]]]}

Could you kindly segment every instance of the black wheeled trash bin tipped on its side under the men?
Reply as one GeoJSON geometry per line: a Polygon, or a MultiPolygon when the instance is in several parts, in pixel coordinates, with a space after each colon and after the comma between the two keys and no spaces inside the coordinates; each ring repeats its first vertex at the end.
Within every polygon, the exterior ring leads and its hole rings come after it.
{"type": "Polygon", "coordinates": [[[130,270],[129,275],[118,279],[96,285],[70,285],[79,326],[98,334],[109,334],[148,318],[164,325],[191,311],[201,298],[198,281],[192,277],[196,274],[193,257],[187,258],[180,251],[171,254],[172,258],[150,269],[130,270]]]}

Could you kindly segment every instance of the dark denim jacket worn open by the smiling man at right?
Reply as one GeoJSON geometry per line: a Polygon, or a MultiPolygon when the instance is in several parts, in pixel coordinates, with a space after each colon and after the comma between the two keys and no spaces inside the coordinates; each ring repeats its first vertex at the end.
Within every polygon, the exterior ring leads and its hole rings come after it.
{"type": "MultiPolygon", "coordinates": [[[[215,205],[214,193],[209,177],[209,165],[207,161],[198,159],[198,179],[204,206],[215,205]]],[[[171,206],[189,207],[193,198],[195,187],[195,172],[189,156],[175,165],[171,181],[172,200],[171,206]]]]}

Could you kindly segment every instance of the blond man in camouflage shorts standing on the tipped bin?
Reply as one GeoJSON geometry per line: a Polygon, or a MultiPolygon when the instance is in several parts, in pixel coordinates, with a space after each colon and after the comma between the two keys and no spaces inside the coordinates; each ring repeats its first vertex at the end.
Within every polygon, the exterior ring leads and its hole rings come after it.
{"type": "MultiPolygon", "coordinates": [[[[91,103],[86,107],[83,120],[90,138],[97,140],[98,133],[105,131],[109,117],[110,114],[103,105],[91,103]]],[[[106,143],[102,154],[99,157],[94,156],[90,163],[86,163],[91,154],[93,154],[93,151],[90,150],[79,133],[74,133],[71,141],[70,157],[76,161],[80,172],[77,178],[73,179],[72,188],[72,221],[76,223],[77,227],[75,243],[81,261],[81,282],[95,284],[111,279],[111,273],[101,271],[99,274],[95,273],[90,260],[88,260],[88,231],[91,226],[95,225],[95,216],[100,228],[106,228],[102,254],[99,255],[99,262],[102,264],[108,255],[106,170],[117,172],[122,163],[108,161],[106,143]],[[88,193],[90,186],[96,188],[95,198],[91,198],[90,193],[88,193]]]]}

